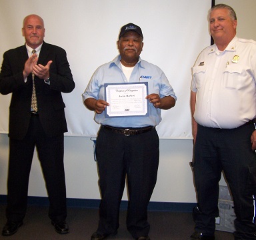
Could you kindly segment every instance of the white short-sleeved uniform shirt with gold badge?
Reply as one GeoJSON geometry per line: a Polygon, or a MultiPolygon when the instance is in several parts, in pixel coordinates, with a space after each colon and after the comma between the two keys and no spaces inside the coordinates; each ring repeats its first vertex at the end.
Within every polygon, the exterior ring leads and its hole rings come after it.
{"type": "Polygon", "coordinates": [[[192,72],[197,123],[231,129],[256,117],[255,41],[234,37],[223,52],[207,47],[192,72]]]}

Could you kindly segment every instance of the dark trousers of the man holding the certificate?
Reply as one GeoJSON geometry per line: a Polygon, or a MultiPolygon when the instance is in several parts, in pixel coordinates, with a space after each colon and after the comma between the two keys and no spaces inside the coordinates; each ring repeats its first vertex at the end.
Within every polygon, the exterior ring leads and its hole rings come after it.
{"type": "Polygon", "coordinates": [[[97,233],[116,233],[125,187],[129,195],[127,229],[135,238],[147,236],[147,205],[157,181],[159,137],[155,129],[125,136],[101,127],[96,143],[101,204],[97,233]]]}

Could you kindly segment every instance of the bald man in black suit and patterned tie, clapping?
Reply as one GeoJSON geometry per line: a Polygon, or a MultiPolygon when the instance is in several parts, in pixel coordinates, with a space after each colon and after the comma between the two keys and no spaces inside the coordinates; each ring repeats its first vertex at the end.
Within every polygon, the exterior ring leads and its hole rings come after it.
{"type": "Polygon", "coordinates": [[[70,93],[75,83],[65,50],[43,41],[45,28],[41,17],[25,17],[22,32],[25,45],[4,53],[0,73],[0,93],[12,93],[7,223],[2,235],[13,235],[23,224],[35,146],[49,195],[51,223],[57,233],[68,233],[63,164],[67,123],[61,92],[70,93]]]}

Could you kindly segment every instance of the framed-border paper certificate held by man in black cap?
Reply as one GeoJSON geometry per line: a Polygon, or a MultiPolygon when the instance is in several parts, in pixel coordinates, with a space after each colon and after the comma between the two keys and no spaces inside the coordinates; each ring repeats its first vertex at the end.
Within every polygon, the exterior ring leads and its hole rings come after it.
{"type": "Polygon", "coordinates": [[[105,83],[105,117],[147,116],[147,83],[105,83]]]}

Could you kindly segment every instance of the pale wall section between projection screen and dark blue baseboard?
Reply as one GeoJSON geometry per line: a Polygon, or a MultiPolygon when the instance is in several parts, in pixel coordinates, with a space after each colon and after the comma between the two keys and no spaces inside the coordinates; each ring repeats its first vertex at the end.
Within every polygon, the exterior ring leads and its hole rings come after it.
{"type": "MultiPolygon", "coordinates": [[[[0,194],[7,194],[9,138],[0,134],[0,194]]],[[[192,140],[160,140],[157,185],[151,201],[195,202],[192,171],[189,167],[192,140]]],[[[65,174],[67,197],[100,199],[97,163],[89,137],[65,137],[65,174]]],[[[29,195],[46,197],[45,183],[35,152],[29,181],[29,195]]],[[[127,200],[125,191],[123,199],[127,200]]]]}

